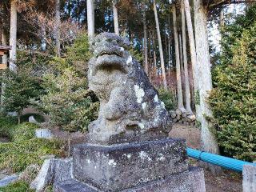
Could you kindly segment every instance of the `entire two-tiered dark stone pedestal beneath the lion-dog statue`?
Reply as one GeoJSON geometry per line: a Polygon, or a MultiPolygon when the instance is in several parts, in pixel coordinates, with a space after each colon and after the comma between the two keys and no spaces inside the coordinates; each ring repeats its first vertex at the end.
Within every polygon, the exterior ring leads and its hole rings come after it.
{"type": "Polygon", "coordinates": [[[56,192],[205,191],[203,171],[189,169],[183,139],[74,147],[74,179],[56,192]]]}

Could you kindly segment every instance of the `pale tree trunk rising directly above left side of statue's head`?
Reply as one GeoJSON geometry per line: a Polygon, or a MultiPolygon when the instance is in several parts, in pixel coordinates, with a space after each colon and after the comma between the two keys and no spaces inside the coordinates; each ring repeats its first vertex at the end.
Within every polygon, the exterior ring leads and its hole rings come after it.
{"type": "Polygon", "coordinates": [[[94,0],[87,0],[88,36],[94,38],[94,0]]]}

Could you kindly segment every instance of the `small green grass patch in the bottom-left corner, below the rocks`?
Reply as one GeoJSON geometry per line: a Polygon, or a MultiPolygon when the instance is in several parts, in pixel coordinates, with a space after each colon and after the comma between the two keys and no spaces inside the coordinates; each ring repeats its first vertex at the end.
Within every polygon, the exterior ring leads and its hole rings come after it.
{"type": "Polygon", "coordinates": [[[30,185],[27,182],[18,181],[8,186],[0,187],[0,192],[34,192],[30,190],[30,185]]]}

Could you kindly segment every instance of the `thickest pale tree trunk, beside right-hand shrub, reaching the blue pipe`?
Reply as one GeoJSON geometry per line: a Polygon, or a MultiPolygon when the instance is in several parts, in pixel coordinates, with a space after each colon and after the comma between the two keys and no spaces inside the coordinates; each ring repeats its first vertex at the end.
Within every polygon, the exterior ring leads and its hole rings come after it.
{"type": "Polygon", "coordinates": [[[208,92],[212,89],[206,13],[206,10],[204,10],[204,7],[202,6],[202,0],[194,0],[195,41],[199,67],[199,97],[200,108],[203,114],[201,122],[202,150],[219,154],[217,140],[215,135],[210,131],[212,125],[209,119],[212,118],[212,113],[210,106],[206,102],[208,92]]]}

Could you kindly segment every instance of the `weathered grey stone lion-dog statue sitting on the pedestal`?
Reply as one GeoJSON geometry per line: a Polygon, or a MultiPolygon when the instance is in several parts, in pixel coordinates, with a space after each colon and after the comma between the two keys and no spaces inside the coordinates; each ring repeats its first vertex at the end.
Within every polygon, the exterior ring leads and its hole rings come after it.
{"type": "Polygon", "coordinates": [[[90,142],[114,144],[166,138],[171,128],[165,105],[142,66],[115,34],[99,34],[91,44],[88,80],[100,100],[98,119],[90,123],[90,142]]]}

